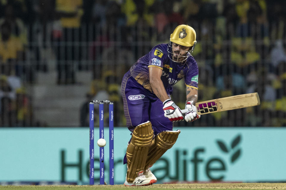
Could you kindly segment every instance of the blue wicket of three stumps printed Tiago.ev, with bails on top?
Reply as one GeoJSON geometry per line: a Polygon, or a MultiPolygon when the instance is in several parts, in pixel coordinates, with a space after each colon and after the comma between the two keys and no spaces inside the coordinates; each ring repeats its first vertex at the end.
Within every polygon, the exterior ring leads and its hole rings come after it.
{"type": "MultiPolygon", "coordinates": [[[[94,100],[89,103],[89,185],[94,185],[94,104],[99,104],[99,138],[104,139],[104,104],[109,104],[109,184],[114,185],[113,102],[94,100]]],[[[104,147],[100,152],[100,185],[104,185],[104,147]]]]}

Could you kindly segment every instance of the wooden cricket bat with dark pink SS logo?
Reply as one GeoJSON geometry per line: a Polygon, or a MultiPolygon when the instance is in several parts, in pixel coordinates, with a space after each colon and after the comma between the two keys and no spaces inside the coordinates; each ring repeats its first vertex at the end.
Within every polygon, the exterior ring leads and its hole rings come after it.
{"type": "MultiPolygon", "coordinates": [[[[241,94],[237,96],[229,96],[225,98],[213,99],[204,102],[197,102],[196,107],[198,115],[207,113],[215,113],[226,110],[235,110],[244,107],[257,106],[260,104],[257,92],[251,94],[241,94]]],[[[181,110],[187,113],[188,109],[181,110]]]]}

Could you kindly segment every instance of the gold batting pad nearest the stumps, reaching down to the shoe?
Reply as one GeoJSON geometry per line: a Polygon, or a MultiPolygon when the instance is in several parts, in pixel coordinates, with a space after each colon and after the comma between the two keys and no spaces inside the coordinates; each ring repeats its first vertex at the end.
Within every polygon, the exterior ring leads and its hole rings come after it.
{"type": "Polygon", "coordinates": [[[132,134],[126,150],[127,178],[132,183],[138,175],[143,174],[149,147],[153,139],[153,129],[150,121],[138,125],[132,134]]]}

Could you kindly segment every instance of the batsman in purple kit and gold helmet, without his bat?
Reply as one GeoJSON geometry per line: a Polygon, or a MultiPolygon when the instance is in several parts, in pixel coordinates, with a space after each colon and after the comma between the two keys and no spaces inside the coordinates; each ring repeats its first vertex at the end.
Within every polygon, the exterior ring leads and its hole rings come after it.
{"type": "Polygon", "coordinates": [[[198,101],[198,65],[191,55],[196,45],[195,30],[179,25],[170,42],[159,44],[125,73],[121,93],[127,127],[132,132],[124,164],[125,186],[151,185],[157,182],[150,167],[176,142],[180,130],[173,122],[200,118],[198,101]],[[171,99],[172,86],[184,78],[186,106],[182,114],[171,99]]]}

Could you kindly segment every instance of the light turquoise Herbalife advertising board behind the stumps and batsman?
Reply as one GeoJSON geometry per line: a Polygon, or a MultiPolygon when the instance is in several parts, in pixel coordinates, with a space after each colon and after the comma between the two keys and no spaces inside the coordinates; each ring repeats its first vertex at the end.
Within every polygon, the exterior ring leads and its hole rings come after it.
{"type": "MultiPolygon", "coordinates": [[[[175,128],[174,130],[177,130],[175,128]]],[[[175,145],[151,168],[159,182],[283,181],[286,128],[181,127],[175,145]]],[[[95,140],[99,137],[95,129],[95,140]]],[[[108,128],[105,129],[108,138],[108,128]]],[[[123,156],[130,132],[114,128],[115,184],[125,181],[123,156]]],[[[99,183],[95,143],[94,179],[99,183]]],[[[89,183],[89,128],[1,128],[0,182],[89,183]]],[[[105,181],[108,183],[108,140],[105,181]]]]}

